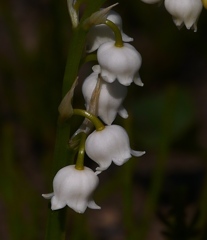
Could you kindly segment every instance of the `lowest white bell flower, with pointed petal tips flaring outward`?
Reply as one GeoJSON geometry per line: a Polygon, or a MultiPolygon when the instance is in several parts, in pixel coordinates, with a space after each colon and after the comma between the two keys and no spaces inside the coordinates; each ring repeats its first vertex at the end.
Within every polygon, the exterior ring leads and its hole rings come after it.
{"type": "Polygon", "coordinates": [[[51,198],[51,209],[57,210],[68,205],[78,213],[84,213],[86,208],[100,209],[92,200],[92,193],[99,183],[96,174],[87,167],[77,170],[75,165],[60,169],[53,180],[53,193],[42,194],[51,198]]]}

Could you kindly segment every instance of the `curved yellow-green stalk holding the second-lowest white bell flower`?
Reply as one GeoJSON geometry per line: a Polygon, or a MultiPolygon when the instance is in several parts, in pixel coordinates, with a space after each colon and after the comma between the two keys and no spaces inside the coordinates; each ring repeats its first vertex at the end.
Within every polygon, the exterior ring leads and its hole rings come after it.
{"type": "Polygon", "coordinates": [[[105,128],[104,124],[95,115],[87,112],[86,110],[73,109],[73,114],[80,115],[80,116],[83,116],[83,117],[89,119],[95,126],[96,131],[102,131],[105,128]]]}

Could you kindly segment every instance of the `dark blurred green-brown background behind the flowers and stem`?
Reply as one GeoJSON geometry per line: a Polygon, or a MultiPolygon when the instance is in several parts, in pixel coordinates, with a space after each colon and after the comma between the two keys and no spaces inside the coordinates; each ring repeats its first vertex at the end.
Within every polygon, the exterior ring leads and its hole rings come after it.
{"type": "MultiPolygon", "coordinates": [[[[67,239],[205,240],[207,12],[194,33],[178,30],[163,4],[121,0],[115,11],[142,55],[144,82],[129,87],[124,106],[130,117],[116,123],[127,129],[131,147],[146,154],[100,175],[95,200],[102,210],[82,216],[69,209],[67,239]]],[[[44,239],[41,194],[51,187],[70,34],[66,1],[0,3],[2,240],[44,239]]],[[[83,108],[81,84],[76,92],[75,104],[83,108]]]]}

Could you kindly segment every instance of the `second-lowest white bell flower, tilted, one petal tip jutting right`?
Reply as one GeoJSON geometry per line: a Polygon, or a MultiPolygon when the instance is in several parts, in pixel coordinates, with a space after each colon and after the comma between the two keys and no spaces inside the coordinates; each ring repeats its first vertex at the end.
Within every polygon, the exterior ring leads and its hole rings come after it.
{"type": "Polygon", "coordinates": [[[124,128],[118,125],[106,126],[102,131],[92,132],[86,139],[87,155],[99,167],[97,174],[107,169],[112,161],[120,166],[133,156],[142,156],[145,152],[134,151],[130,148],[129,137],[124,128]]]}

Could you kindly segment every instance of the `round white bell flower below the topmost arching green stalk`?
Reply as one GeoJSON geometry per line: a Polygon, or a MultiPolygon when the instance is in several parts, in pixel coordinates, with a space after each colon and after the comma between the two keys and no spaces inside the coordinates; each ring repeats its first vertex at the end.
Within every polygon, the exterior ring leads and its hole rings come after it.
{"type": "Polygon", "coordinates": [[[116,79],[125,86],[132,81],[139,86],[143,83],[139,77],[142,57],[130,44],[124,43],[123,47],[116,47],[114,42],[107,42],[100,46],[97,59],[101,66],[101,77],[108,83],[116,79]]]}

